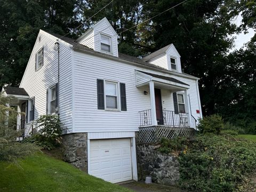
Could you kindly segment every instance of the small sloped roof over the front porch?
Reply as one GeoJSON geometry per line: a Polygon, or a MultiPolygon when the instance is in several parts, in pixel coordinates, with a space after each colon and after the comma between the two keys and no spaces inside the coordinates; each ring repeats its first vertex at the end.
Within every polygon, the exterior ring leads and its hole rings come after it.
{"type": "Polygon", "coordinates": [[[147,85],[150,81],[153,81],[155,87],[175,91],[184,91],[189,89],[189,85],[169,76],[162,76],[158,74],[152,74],[145,71],[135,70],[136,86],[140,87],[147,85]]]}

